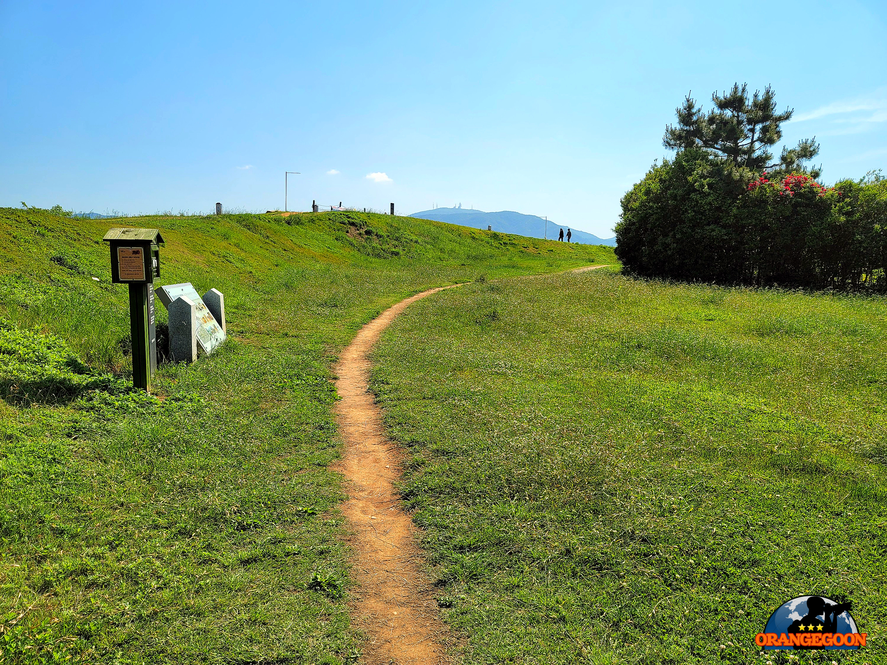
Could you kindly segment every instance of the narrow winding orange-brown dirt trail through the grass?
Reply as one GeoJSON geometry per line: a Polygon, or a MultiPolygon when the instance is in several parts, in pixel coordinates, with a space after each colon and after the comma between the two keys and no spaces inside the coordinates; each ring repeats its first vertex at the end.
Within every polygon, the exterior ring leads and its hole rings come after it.
{"type": "Polygon", "coordinates": [[[381,332],[412,302],[453,286],[417,293],[386,309],[357,332],[335,370],[340,396],[335,414],[344,450],[334,468],[349,481],[350,497],[342,512],[354,533],[352,572],[359,585],[350,613],[369,637],[363,658],[367,665],[443,665],[447,646],[455,642],[440,620],[421,567],[418,529],[394,488],[401,476],[401,455],[386,437],[381,410],[369,391],[368,357],[381,332]]]}

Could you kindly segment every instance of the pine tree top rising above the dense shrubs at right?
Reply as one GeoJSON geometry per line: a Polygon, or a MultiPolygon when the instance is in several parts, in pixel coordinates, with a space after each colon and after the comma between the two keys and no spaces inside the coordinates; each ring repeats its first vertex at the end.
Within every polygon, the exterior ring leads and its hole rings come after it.
{"type": "MultiPolygon", "coordinates": [[[[769,148],[780,142],[780,126],[794,113],[792,109],[776,112],[776,100],[770,86],[764,89],[763,94],[755,90],[749,98],[748,85],[734,83],[729,92],[722,95],[712,93],[711,101],[714,108],[707,114],[703,113],[702,106],[696,106],[695,99],[688,93],[683,106],[676,109],[678,124],[665,128],[663,145],[672,150],[701,147],[712,155],[733,162],[736,167],[753,171],[765,168],[805,171],[802,162],[811,160],[819,153],[820,146],[814,137],[801,141],[790,150],[783,148],[780,160],[769,163],[773,160],[769,148]]],[[[819,176],[819,169],[814,171],[814,177],[819,176]]]]}

